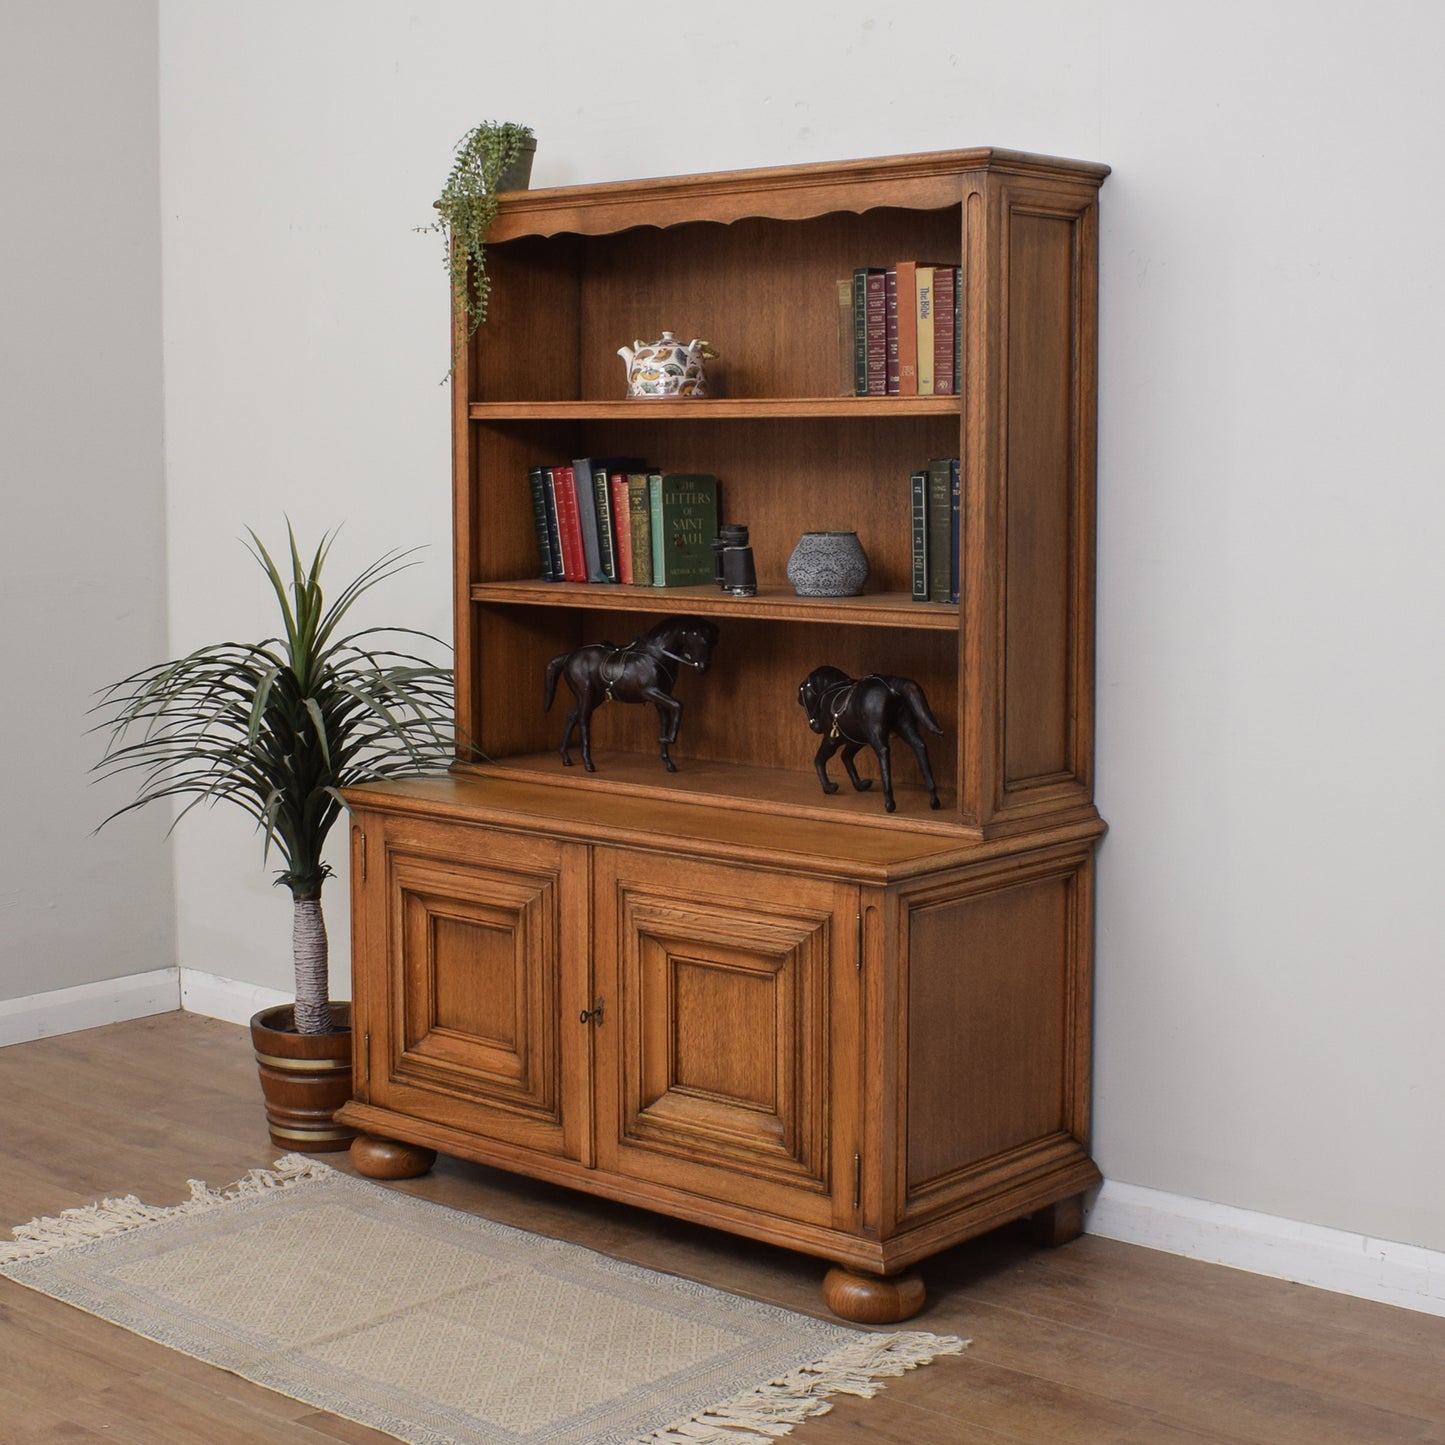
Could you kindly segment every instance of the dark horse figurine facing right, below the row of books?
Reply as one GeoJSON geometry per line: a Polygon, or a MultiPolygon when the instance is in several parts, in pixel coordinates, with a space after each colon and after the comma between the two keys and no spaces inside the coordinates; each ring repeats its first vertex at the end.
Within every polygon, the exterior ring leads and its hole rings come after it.
{"type": "Polygon", "coordinates": [[[577,652],[564,652],[546,665],[546,707],[551,711],[558,678],[566,681],[577,705],[566,715],[562,762],[571,767],[572,730],[581,731],[582,766],[592,766],[592,714],[608,701],[650,702],[657,709],[657,744],[669,773],[678,770],[668,749],[678,741],[682,704],[672,695],[679,668],[708,670],[718,643],[714,623],[702,617],[663,617],[626,647],[594,642],[577,652]]]}

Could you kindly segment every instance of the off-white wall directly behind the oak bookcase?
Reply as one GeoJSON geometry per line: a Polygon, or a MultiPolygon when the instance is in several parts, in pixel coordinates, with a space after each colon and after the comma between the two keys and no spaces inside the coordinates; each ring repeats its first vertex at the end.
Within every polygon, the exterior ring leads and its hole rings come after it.
{"type": "MultiPolygon", "coordinates": [[[[283,512],[344,522],[347,562],[431,543],[381,605],[448,630],[447,293],[412,227],[474,121],[536,129],[535,185],[1110,162],[1097,1153],[1445,1248],[1445,12],[162,0],[160,39],[178,647],[256,626],[234,539],[283,512]]],[[[244,821],[188,821],[178,889],[182,965],[285,987],[244,821]]]]}

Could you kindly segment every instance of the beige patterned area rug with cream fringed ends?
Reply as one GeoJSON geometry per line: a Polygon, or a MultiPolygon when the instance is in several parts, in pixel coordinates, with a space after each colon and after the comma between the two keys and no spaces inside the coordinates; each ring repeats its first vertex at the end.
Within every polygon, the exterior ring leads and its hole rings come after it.
{"type": "Polygon", "coordinates": [[[747,1445],[958,1354],[657,1274],[288,1155],[66,1209],[0,1274],[412,1445],[747,1445]]]}

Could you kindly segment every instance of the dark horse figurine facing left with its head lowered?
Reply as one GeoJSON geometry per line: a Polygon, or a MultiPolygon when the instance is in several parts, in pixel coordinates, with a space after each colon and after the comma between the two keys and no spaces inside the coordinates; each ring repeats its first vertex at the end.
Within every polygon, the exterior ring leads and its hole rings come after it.
{"type": "Polygon", "coordinates": [[[883,775],[883,806],[893,812],[893,764],[889,757],[889,734],[897,733],[918,759],[923,782],[928,783],[928,805],[938,806],[933,769],[928,764],[928,746],[919,728],[942,734],[923,696],[923,689],[910,678],[886,678],[871,673],[850,678],[838,668],[815,668],[798,689],[798,701],[808,712],[808,725],[822,734],[814,767],[825,793],[835,793],[837,783],[828,782],[828,759],[842,749],[842,766],[848,782],[860,792],[873,786],[871,777],[860,777],[853,760],[860,747],[871,747],[883,775]]]}

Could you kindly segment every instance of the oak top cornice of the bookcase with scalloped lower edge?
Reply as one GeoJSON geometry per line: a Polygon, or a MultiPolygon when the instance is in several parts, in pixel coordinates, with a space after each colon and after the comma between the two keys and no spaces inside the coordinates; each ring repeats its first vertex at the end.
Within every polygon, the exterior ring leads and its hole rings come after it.
{"type": "Polygon", "coordinates": [[[805,220],[831,211],[868,211],[884,205],[935,210],[957,205],[964,194],[964,178],[980,172],[1098,188],[1108,175],[1108,166],[980,147],[510,191],[501,198],[501,211],[488,240],[559,233],[603,236],[634,225],[725,224],[750,217],[805,220]]]}

